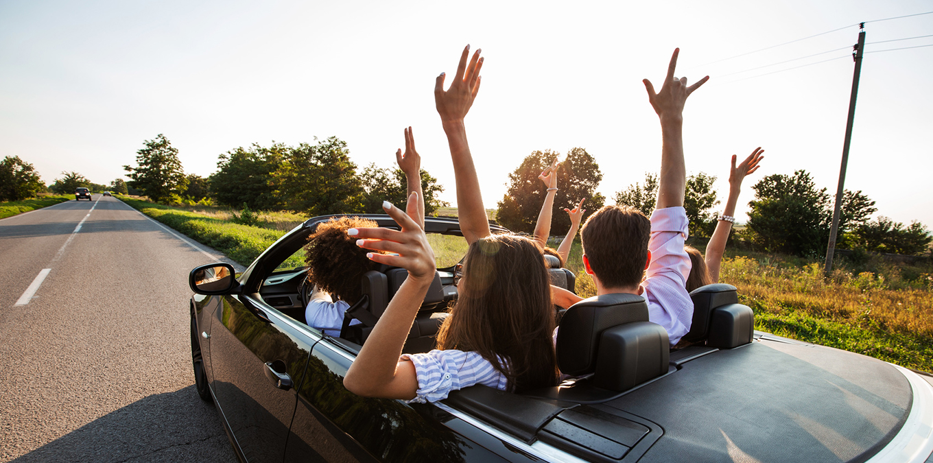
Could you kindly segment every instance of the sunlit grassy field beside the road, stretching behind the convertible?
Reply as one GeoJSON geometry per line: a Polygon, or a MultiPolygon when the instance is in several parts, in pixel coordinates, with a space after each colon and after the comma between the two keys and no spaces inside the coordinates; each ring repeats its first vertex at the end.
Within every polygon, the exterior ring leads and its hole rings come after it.
{"type": "MultiPolygon", "coordinates": [[[[229,209],[124,201],[244,265],[304,219],[259,213],[260,226],[249,227],[230,222],[229,209]]],[[[456,209],[441,215],[455,216],[456,209]]],[[[438,267],[450,267],[466,253],[463,238],[429,240],[438,267]]],[[[301,257],[293,256],[283,266],[299,265],[301,257]]],[[[728,249],[720,281],[738,288],[739,301],[755,311],[757,330],[933,372],[933,265],[876,260],[855,266],[842,260],[839,267],[824,278],[821,262],[815,260],[728,249]]],[[[571,248],[567,268],[577,274],[580,296],[595,294],[592,278],[583,272],[579,241],[571,248]]]]}

